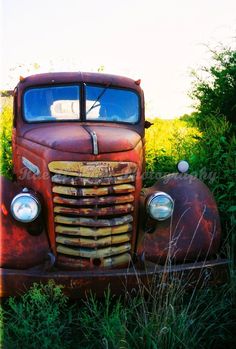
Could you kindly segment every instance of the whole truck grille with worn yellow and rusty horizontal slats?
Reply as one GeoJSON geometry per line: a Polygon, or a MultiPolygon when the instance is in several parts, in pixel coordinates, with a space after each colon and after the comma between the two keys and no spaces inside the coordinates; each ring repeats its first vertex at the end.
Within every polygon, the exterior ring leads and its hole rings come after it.
{"type": "Polygon", "coordinates": [[[49,170],[58,264],[71,269],[127,265],[137,165],[53,161],[49,170]]]}

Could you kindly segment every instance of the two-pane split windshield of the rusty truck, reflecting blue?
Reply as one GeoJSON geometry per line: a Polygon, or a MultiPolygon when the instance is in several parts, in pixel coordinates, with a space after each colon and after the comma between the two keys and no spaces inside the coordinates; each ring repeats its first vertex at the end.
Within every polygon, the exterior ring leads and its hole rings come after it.
{"type": "MultiPolygon", "coordinates": [[[[85,119],[136,123],[139,97],[134,91],[109,86],[84,86],[85,119]]],[[[81,120],[81,87],[53,86],[30,88],[24,94],[24,118],[28,122],[81,120]]]]}

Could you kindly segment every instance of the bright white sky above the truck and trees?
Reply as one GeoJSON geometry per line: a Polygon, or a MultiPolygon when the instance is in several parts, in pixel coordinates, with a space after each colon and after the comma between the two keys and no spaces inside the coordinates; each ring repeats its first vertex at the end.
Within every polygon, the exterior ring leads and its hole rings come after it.
{"type": "Polygon", "coordinates": [[[97,71],[141,79],[147,116],[190,113],[191,71],[236,47],[236,0],[0,0],[0,89],[19,76],[97,71]]]}

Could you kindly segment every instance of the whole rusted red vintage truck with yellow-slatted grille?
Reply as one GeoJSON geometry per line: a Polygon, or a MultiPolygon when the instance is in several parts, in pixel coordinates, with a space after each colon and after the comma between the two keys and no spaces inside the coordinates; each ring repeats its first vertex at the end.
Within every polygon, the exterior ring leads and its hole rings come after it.
{"type": "MultiPolygon", "coordinates": [[[[1,295],[50,279],[79,297],[173,273],[225,280],[214,198],[181,173],[142,187],[140,80],[101,73],[21,77],[14,178],[1,178],[1,295]]],[[[186,168],[185,168],[186,167],[186,168]]]]}

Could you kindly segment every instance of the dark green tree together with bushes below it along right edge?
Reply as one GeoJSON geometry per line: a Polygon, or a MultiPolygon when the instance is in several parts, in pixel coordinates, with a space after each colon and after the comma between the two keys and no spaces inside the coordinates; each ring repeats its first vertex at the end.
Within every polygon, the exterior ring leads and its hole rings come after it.
{"type": "MultiPolygon", "coordinates": [[[[202,139],[195,154],[195,163],[214,174],[209,183],[221,213],[226,235],[236,237],[236,51],[212,51],[213,64],[202,68],[205,75],[195,73],[192,97],[196,101],[195,125],[202,139]]],[[[235,252],[234,252],[235,253],[235,252]]]]}

